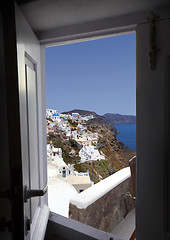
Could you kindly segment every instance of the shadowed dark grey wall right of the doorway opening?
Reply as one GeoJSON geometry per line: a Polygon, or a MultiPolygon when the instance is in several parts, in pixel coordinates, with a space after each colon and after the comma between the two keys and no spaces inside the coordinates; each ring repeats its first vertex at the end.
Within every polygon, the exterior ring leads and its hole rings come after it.
{"type": "MultiPolygon", "coordinates": [[[[165,239],[166,59],[170,20],[156,23],[157,66],[150,69],[150,26],[137,27],[137,240],[165,239]]],[[[170,66],[169,66],[170,67],[170,66]]]]}

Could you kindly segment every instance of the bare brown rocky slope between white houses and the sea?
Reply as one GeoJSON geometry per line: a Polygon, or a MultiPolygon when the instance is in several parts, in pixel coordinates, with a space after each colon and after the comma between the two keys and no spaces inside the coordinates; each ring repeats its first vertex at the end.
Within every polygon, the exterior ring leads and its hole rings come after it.
{"type": "MultiPolygon", "coordinates": [[[[88,129],[98,132],[98,149],[105,154],[106,160],[92,162],[88,166],[90,176],[94,182],[98,182],[110,174],[129,166],[128,161],[136,155],[136,152],[127,148],[121,141],[116,139],[116,135],[107,125],[101,125],[94,121],[88,121],[88,129]]],[[[87,163],[80,164],[79,167],[87,168],[87,163]]]]}

